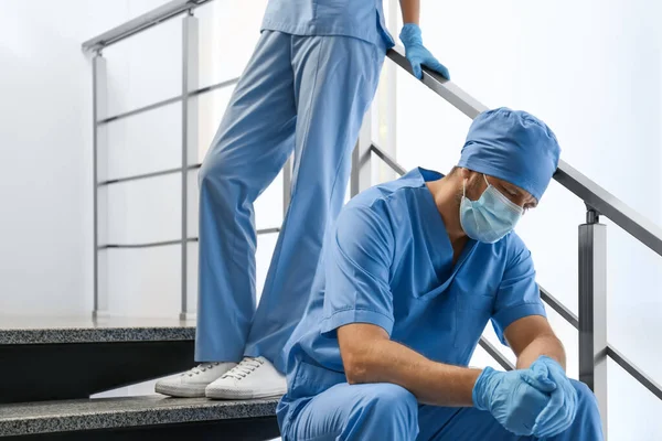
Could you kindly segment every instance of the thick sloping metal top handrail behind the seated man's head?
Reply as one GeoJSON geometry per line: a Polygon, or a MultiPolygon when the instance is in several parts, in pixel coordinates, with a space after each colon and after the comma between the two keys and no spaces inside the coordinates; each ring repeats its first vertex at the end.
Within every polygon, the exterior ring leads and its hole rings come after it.
{"type": "MultiPolygon", "coordinates": [[[[402,47],[386,54],[395,64],[412,73],[412,66],[402,47]]],[[[488,107],[468,95],[452,82],[424,67],[423,84],[446,99],[462,114],[473,119],[488,107]]],[[[637,240],[662,256],[662,228],[629,207],[626,203],[602,189],[588,176],[581,174],[565,161],[558,162],[554,179],[570,193],[578,196],[590,208],[611,219],[637,240]]]]}

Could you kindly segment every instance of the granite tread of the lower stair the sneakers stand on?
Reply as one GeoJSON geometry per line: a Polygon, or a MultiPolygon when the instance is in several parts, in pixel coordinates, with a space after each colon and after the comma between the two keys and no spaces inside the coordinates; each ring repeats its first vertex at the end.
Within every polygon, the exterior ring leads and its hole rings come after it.
{"type": "Polygon", "coordinates": [[[0,437],[274,417],[277,402],[278,398],[212,401],[150,395],[2,405],[0,437]]]}

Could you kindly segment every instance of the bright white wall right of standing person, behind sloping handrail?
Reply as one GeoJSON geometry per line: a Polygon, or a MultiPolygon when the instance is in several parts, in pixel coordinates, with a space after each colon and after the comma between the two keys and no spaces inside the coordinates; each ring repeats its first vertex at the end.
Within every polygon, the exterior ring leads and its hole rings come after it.
{"type": "MultiPolygon", "coordinates": [[[[558,136],[562,157],[662,223],[662,4],[650,0],[423,2],[424,42],[488,107],[521,108],[558,136]]],[[[398,77],[397,158],[447,171],[469,119],[408,75],[398,77]],[[413,111],[412,109],[417,109],[413,111]]],[[[583,204],[554,183],[519,233],[543,287],[577,311],[583,204]]],[[[609,342],[662,383],[662,258],[607,219],[609,342]]],[[[551,319],[577,375],[577,334],[551,319]]],[[[479,351],[474,363],[487,363],[479,351]]],[[[662,405],[610,364],[612,440],[656,440],[662,405]],[[631,399],[619,399],[629,391],[631,399]],[[637,427],[637,429],[633,429],[637,427]],[[634,431],[633,431],[634,430],[634,431]]]]}

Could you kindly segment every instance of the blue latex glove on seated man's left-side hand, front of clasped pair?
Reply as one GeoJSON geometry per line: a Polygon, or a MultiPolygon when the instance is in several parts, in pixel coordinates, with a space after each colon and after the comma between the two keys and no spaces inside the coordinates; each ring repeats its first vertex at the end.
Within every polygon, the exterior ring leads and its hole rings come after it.
{"type": "Polygon", "coordinates": [[[487,367],[473,386],[473,406],[488,410],[509,431],[528,437],[549,402],[553,385],[538,381],[530,369],[508,373],[487,367]]]}

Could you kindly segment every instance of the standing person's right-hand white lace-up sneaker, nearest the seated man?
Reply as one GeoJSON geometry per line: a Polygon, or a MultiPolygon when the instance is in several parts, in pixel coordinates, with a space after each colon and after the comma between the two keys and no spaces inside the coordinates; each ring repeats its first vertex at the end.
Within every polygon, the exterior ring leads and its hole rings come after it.
{"type": "Polygon", "coordinates": [[[287,381],[265,357],[244,357],[242,363],[207,386],[205,395],[215,399],[250,399],[284,395],[287,381]]]}

